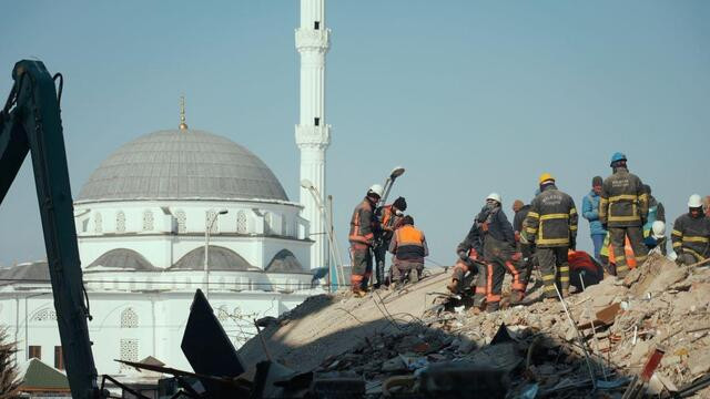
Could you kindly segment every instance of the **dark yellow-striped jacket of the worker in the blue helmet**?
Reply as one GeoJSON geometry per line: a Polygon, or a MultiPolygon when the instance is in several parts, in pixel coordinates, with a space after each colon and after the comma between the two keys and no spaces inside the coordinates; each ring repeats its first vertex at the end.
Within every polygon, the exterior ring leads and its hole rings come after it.
{"type": "Polygon", "coordinates": [[[601,185],[599,221],[608,227],[641,226],[648,214],[648,194],[641,180],[625,167],[617,167],[601,185]]]}

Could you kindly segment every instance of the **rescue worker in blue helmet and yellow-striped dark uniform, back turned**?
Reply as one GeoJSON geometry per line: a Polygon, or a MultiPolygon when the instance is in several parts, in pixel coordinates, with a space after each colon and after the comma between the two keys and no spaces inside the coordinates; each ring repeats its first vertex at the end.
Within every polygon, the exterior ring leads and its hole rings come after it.
{"type": "Polygon", "coordinates": [[[648,216],[648,194],[641,180],[629,173],[626,155],[613,154],[610,166],[613,174],[601,185],[599,221],[609,231],[609,241],[616,259],[616,275],[626,277],[629,273],[623,253],[626,237],[631,243],[637,265],[642,265],[648,254],[641,231],[648,216]]]}

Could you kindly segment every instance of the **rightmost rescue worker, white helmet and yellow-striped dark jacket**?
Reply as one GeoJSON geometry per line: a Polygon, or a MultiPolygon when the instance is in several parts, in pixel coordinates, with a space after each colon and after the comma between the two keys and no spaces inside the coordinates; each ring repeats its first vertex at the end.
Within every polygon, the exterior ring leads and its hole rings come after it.
{"type": "Polygon", "coordinates": [[[692,265],[710,256],[710,217],[702,213],[700,195],[690,196],[688,213],[676,219],[670,239],[681,265],[692,265]]]}

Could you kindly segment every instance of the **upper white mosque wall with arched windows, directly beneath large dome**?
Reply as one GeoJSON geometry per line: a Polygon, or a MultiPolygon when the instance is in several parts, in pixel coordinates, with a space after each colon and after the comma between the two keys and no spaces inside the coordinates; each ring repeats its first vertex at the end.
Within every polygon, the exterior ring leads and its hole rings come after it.
{"type": "Polygon", "coordinates": [[[75,204],[83,266],[115,248],[133,249],[153,266],[168,268],[204,245],[206,218],[226,208],[211,229],[211,245],[224,246],[251,265],[265,267],[282,249],[308,267],[308,222],[300,206],[280,202],[90,202],[75,204]]]}

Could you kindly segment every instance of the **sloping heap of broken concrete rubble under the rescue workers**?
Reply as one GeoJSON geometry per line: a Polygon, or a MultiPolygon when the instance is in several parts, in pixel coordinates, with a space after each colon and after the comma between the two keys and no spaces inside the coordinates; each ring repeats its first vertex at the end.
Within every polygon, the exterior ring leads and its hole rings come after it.
{"type": "MultiPolygon", "coordinates": [[[[691,386],[710,372],[707,267],[650,256],[623,280],[608,276],[572,294],[566,301],[582,344],[561,304],[541,300],[539,282],[530,283],[525,305],[488,314],[462,310],[463,300],[445,291],[448,277],[433,272],[405,289],[362,299],[314,298],[262,334],[287,367],[354,372],[368,398],[466,397],[471,386],[480,389],[476,397],[501,397],[496,389],[505,387],[508,398],[585,398],[597,387],[601,397],[621,398],[657,348],[665,356],[645,389],[659,397],[677,387],[710,395],[704,385],[691,386]],[[501,331],[507,338],[491,345],[501,331]],[[496,393],[480,396],[487,389],[496,393]]],[[[245,364],[262,357],[255,340],[240,349],[245,364]]]]}

